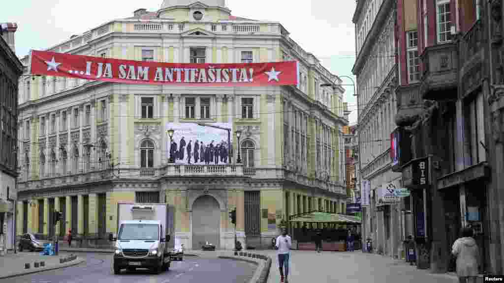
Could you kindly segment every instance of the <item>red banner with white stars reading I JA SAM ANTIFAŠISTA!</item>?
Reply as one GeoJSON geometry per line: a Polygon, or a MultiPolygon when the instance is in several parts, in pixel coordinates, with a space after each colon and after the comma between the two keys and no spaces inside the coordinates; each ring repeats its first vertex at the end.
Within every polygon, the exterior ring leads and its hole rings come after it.
{"type": "Polygon", "coordinates": [[[109,59],[49,51],[31,52],[32,75],[126,84],[187,86],[297,85],[297,62],[196,64],[109,59]]]}

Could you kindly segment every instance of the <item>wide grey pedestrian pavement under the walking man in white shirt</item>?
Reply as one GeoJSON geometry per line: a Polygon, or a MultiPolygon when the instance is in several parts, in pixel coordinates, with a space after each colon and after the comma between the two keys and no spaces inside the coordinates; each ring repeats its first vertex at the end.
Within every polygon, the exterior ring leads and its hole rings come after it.
{"type": "MultiPolygon", "coordinates": [[[[258,251],[272,257],[268,283],[280,281],[277,253],[258,251]]],[[[375,283],[454,283],[457,277],[450,274],[432,274],[419,270],[403,260],[376,254],[355,252],[291,251],[289,282],[375,282],[375,283]]]]}

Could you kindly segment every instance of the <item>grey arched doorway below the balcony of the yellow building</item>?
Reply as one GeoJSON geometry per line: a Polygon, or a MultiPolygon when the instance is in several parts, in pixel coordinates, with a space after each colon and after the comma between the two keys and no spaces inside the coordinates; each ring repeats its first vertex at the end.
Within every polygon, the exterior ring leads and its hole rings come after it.
{"type": "Polygon", "coordinates": [[[193,203],[193,249],[208,242],[220,248],[220,207],[211,195],[202,195],[193,203]]]}

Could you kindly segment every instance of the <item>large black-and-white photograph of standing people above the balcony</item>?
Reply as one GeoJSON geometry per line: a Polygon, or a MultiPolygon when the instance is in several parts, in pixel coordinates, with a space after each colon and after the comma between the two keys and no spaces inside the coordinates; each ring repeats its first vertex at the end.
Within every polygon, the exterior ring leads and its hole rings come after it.
{"type": "Polygon", "coordinates": [[[231,123],[167,123],[166,130],[173,130],[171,145],[168,139],[168,159],[171,156],[176,165],[230,163],[231,129],[231,123]]]}

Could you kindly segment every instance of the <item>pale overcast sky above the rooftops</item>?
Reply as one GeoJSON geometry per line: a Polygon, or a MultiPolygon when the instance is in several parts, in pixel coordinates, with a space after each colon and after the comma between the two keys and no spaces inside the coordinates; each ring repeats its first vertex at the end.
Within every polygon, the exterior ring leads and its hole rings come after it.
{"type": "MultiPolygon", "coordinates": [[[[133,16],[145,8],[157,11],[162,0],[44,0],[6,1],[0,9],[0,22],[15,22],[16,53],[19,57],[30,49],[43,50],[73,34],[81,34],[107,21],[133,16]]],[[[317,56],[333,74],[352,76],[355,60],[355,37],[352,15],[355,0],[226,0],[233,16],[280,22],[290,37],[304,50],[317,56]],[[294,4],[295,3],[295,4],[294,4]],[[294,4],[294,5],[293,5],[294,4]]],[[[343,84],[351,84],[342,78],[343,84]]],[[[345,86],[350,123],[357,120],[353,87],[345,86]]]]}

